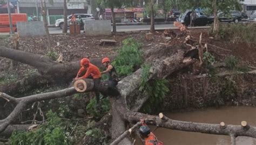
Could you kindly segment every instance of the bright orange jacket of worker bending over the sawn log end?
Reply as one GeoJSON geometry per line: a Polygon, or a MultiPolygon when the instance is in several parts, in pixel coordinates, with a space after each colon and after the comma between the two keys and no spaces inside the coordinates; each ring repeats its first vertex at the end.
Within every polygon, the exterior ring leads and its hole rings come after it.
{"type": "MultiPolygon", "coordinates": [[[[80,75],[83,71],[85,71],[86,69],[84,67],[81,67],[80,70],[78,71],[77,75],[80,75]]],[[[93,79],[97,79],[102,77],[99,71],[99,68],[93,64],[89,64],[89,66],[87,67],[87,71],[86,73],[83,75],[83,77],[81,77],[81,79],[85,79],[87,77],[89,77],[89,75],[92,75],[93,79]]]]}

